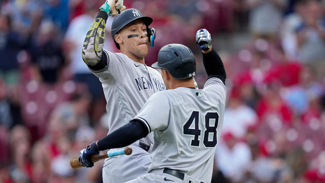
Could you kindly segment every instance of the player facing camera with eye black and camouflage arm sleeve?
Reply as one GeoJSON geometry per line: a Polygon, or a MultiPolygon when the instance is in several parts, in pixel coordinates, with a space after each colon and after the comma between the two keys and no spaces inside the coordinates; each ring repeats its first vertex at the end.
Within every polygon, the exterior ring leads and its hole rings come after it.
{"type": "MultiPolygon", "coordinates": [[[[108,0],[100,8],[82,50],[84,62],[103,85],[110,129],[108,134],[131,120],[151,95],[166,89],[160,73],[144,62],[148,45],[153,46],[155,36],[154,29],[148,27],[152,22],[150,17],[143,16],[136,9],[118,14],[112,22],[111,33],[121,53],[103,49],[106,20],[111,15],[110,5],[114,5],[114,1],[108,0]]],[[[122,7],[123,1],[117,1],[115,8],[122,10],[122,7]]],[[[106,159],[103,181],[125,182],[146,173],[151,163],[148,153],[150,144],[153,144],[152,134],[132,143],[131,156],[106,159]]],[[[87,165],[91,166],[92,163],[87,165]]]]}

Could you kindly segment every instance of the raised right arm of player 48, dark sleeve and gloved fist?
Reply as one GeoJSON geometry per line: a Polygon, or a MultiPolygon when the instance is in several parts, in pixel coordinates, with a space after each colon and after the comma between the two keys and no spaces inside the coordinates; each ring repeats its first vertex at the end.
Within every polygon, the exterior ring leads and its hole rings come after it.
{"type": "Polygon", "coordinates": [[[222,60],[211,45],[211,35],[207,29],[203,28],[197,32],[197,45],[202,50],[203,65],[208,74],[208,79],[219,78],[225,84],[226,73],[222,60]]]}

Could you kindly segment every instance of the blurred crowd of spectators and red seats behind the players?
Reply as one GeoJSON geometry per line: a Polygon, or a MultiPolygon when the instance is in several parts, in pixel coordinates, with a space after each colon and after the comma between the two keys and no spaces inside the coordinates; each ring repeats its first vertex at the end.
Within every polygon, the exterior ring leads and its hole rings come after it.
{"type": "MultiPolygon", "coordinates": [[[[0,182],[102,182],[71,158],[108,132],[101,84],[81,57],[104,0],[0,1],[0,182]]],[[[212,182],[325,182],[325,1],[125,0],[154,19],[156,62],[207,28],[227,72],[212,182]]],[[[105,48],[118,51],[109,18],[105,48]]],[[[114,110],[114,109],[111,109],[114,110]]]]}

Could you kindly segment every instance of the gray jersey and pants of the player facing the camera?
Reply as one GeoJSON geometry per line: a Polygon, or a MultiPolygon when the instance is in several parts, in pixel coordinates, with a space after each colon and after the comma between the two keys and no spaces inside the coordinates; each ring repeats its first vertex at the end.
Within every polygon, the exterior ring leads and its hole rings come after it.
{"type": "MultiPolygon", "coordinates": [[[[123,53],[107,50],[104,50],[104,53],[109,58],[108,67],[92,72],[99,77],[103,85],[111,133],[128,123],[152,94],[166,89],[166,86],[155,69],[134,62],[123,53]]],[[[153,143],[152,134],[141,140],[153,143]]],[[[104,182],[125,182],[147,172],[151,163],[149,153],[139,147],[139,141],[130,146],[133,148],[132,155],[105,160],[104,182]]],[[[117,149],[112,149],[115,150],[117,149]]]]}

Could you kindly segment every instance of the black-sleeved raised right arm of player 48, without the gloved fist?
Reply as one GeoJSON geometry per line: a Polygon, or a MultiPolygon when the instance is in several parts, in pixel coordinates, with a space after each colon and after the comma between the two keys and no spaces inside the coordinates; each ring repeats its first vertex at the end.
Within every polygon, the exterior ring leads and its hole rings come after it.
{"type": "Polygon", "coordinates": [[[207,72],[208,78],[217,77],[225,84],[226,73],[218,53],[215,52],[211,46],[209,50],[202,51],[202,56],[203,65],[207,72]]]}

